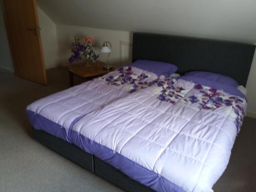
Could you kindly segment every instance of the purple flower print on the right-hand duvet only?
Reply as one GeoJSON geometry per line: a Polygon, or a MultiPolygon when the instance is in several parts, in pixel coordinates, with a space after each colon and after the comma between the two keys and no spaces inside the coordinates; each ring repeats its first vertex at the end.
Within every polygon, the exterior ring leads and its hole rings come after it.
{"type": "Polygon", "coordinates": [[[229,96],[224,92],[202,86],[201,84],[195,84],[195,94],[184,98],[184,92],[187,93],[189,90],[175,86],[175,82],[176,79],[174,78],[166,78],[157,81],[157,87],[162,88],[161,93],[157,98],[171,104],[175,104],[179,99],[182,99],[185,102],[198,103],[198,108],[200,110],[214,111],[221,106],[230,107],[235,115],[234,124],[237,127],[237,133],[239,133],[245,116],[245,111],[242,106],[244,102],[243,99],[238,96],[229,96]]]}

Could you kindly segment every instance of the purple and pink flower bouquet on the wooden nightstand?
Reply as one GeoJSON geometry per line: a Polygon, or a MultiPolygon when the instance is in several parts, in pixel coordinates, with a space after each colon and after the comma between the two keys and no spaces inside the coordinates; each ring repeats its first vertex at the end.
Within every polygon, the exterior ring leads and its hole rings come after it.
{"type": "Polygon", "coordinates": [[[70,48],[72,52],[69,58],[70,63],[75,60],[81,60],[82,56],[85,56],[86,59],[91,59],[93,62],[96,62],[99,57],[99,54],[96,54],[97,47],[94,45],[92,37],[75,37],[75,42],[72,42],[70,48]]]}

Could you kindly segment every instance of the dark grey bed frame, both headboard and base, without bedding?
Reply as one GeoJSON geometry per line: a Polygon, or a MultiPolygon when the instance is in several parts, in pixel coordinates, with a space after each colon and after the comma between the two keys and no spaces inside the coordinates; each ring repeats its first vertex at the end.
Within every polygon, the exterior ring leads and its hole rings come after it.
{"type": "MultiPolygon", "coordinates": [[[[134,33],[133,61],[157,60],[178,66],[178,73],[210,71],[246,85],[255,46],[238,42],[191,37],[134,33]]],[[[124,175],[118,169],[80,148],[44,131],[33,129],[33,136],[60,155],[126,191],[154,191],[124,175]]]]}

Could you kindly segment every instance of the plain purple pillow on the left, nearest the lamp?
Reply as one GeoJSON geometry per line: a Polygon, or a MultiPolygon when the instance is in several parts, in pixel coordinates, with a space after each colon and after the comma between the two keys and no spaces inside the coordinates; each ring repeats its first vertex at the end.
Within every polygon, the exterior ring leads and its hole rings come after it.
{"type": "Polygon", "coordinates": [[[178,70],[178,67],[173,64],[153,60],[136,60],[131,66],[155,73],[158,77],[160,75],[167,77],[178,70]]]}

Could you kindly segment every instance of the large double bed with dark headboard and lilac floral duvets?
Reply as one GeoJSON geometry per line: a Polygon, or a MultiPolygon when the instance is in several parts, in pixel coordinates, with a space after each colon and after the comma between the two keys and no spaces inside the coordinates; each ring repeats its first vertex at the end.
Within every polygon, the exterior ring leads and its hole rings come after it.
{"type": "MultiPolygon", "coordinates": [[[[133,36],[133,61],[174,63],[181,75],[214,72],[242,86],[254,50],[237,42],[133,36]]],[[[38,141],[127,191],[212,191],[247,101],[236,87],[206,81],[122,67],[35,101],[27,114],[38,141]]]]}

